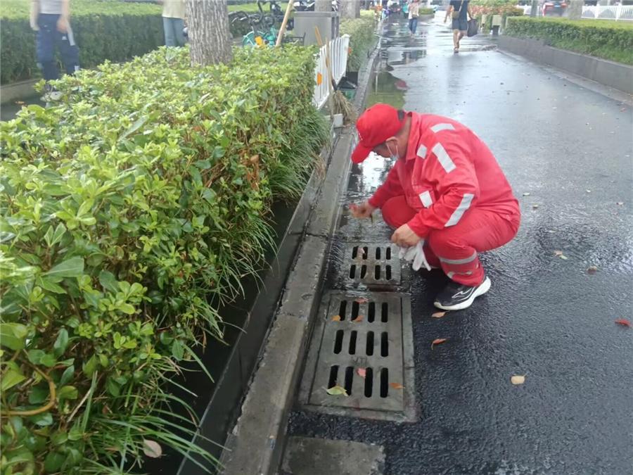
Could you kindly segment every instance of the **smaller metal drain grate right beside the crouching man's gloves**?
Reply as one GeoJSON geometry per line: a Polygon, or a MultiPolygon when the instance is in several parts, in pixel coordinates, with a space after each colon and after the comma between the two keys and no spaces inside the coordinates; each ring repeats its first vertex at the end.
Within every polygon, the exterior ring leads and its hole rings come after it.
{"type": "Polygon", "coordinates": [[[400,260],[392,244],[351,243],[345,252],[347,279],[367,285],[400,283],[400,260]]]}

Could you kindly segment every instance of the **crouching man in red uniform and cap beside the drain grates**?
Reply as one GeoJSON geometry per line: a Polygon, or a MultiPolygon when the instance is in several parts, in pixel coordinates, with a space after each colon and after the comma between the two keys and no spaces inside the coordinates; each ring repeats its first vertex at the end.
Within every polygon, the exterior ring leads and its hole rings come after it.
{"type": "Polygon", "coordinates": [[[428,264],[451,279],[435,306],[470,307],[490,289],[478,253],[511,241],[520,223],[518,201],[497,160],[470,129],[438,115],[376,104],[356,127],[354,163],[371,151],[397,160],[369,201],[350,206],[352,214],[369,217],[380,208],[400,247],[424,239],[428,264]]]}

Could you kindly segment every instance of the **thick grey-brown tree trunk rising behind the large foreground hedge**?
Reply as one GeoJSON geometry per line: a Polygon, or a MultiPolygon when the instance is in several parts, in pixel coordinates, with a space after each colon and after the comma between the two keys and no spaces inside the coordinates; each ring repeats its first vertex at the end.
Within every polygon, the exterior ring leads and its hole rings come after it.
{"type": "Polygon", "coordinates": [[[233,59],[226,0],[187,2],[191,64],[229,63],[233,59]]]}

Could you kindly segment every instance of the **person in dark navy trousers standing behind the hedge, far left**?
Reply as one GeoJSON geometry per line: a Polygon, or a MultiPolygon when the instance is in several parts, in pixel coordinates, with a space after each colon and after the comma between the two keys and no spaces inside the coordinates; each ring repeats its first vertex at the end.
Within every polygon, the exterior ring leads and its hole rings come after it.
{"type": "Polygon", "coordinates": [[[44,98],[59,99],[49,81],[59,79],[55,59],[57,45],[67,74],[79,70],[79,49],[70,29],[70,0],[32,0],[31,27],[37,32],[37,63],[46,80],[44,98]]]}

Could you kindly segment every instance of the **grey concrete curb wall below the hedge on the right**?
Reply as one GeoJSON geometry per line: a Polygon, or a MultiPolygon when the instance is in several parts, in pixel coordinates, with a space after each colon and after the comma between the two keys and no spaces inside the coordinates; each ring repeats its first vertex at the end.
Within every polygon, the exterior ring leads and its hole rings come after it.
{"type": "Polygon", "coordinates": [[[541,40],[499,37],[499,48],[633,94],[633,66],[547,46],[541,40]]]}

